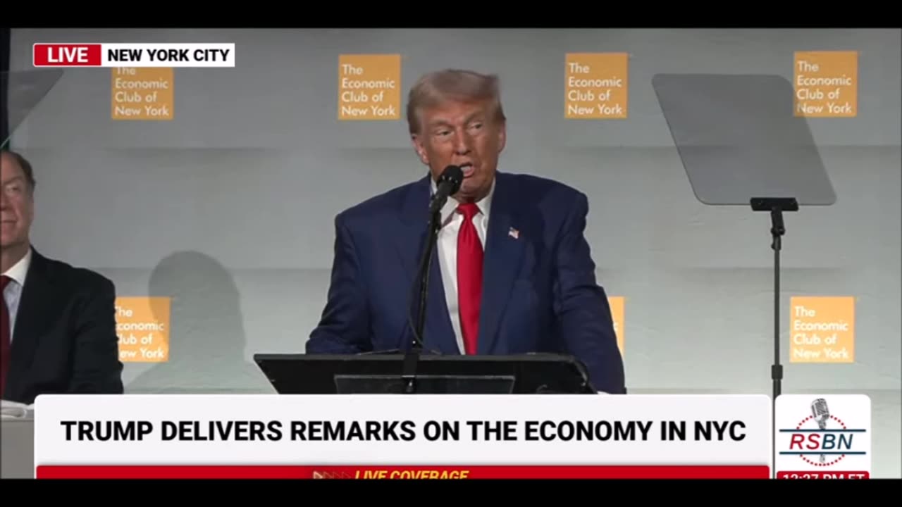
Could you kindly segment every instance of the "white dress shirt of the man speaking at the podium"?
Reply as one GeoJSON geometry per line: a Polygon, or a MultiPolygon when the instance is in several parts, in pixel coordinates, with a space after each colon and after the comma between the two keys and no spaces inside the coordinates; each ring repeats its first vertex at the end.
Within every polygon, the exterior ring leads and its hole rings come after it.
{"type": "MultiPolygon", "coordinates": [[[[435,181],[432,182],[432,192],[437,189],[435,181]]],[[[489,230],[489,210],[492,209],[492,193],[494,182],[489,194],[476,203],[479,213],[474,215],[473,224],[476,226],[476,234],[485,249],[485,236],[489,230]]],[[[460,330],[460,311],[457,304],[457,233],[464,221],[464,216],[457,213],[459,203],[455,198],[448,198],[445,207],[442,207],[442,228],[438,231],[436,249],[438,251],[438,263],[441,266],[442,285],[445,286],[445,299],[448,306],[448,316],[451,318],[451,326],[457,337],[457,349],[465,354],[464,336],[460,330]]]]}

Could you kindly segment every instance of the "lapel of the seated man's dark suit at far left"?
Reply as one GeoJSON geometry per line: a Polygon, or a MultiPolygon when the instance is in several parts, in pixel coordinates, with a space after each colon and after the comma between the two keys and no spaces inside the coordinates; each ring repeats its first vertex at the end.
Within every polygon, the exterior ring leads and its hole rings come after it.
{"type": "Polygon", "coordinates": [[[48,320],[44,318],[55,304],[54,291],[47,260],[32,249],[32,263],[25,277],[25,285],[15,314],[13,343],[10,348],[10,379],[7,385],[18,384],[32,367],[34,353],[48,320]]]}

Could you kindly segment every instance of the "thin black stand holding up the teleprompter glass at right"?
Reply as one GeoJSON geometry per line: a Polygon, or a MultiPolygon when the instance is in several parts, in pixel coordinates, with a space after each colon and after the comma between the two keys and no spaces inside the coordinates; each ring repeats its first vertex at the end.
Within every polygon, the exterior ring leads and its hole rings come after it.
{"type": "Polygon", "coordinates": [[[780,251],[783,249],[783,235],[786,226],[783,223],[784,211],[798,211],[796,198],[752,198],[753,211],[770,212],[770,248],[774,251],[774,364],[770,366],[770,378],[773,382],[773,399],[771,402],[771,474],[777,474],[777,398],[783,382],[783,366],[780,364],[780,251]]]}

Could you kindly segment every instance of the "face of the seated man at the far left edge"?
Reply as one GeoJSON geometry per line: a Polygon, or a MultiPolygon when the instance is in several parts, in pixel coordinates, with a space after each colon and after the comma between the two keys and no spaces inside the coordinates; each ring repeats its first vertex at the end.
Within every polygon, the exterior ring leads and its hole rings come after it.
{"type": "Polygon", "coordinates": [[[34,201],[19,164],[6,152],[0,157],[0,247],[8,248],[28,241],[34,201]]]}

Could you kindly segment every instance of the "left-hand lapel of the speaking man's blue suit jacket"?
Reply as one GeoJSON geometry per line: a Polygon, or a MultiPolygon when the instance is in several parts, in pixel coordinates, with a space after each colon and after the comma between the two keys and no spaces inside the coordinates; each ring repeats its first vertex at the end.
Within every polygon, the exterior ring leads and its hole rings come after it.
{"type": "MultiPolygon", "coordinates": [[[[410,319],[416,326],[416,309],[419,305],[419,284],[411,290],[414,277],[419,270],[419,258],[425,247],[428,234],[428,205],[431,193],[428,176],[410,187],[400,207],[400,224],[394,244],[405,272],[403,293],[400,294],[404,309],[411,309],[410,319]],[[411,300],[412,297],[412,300],[411,300]]],[[[448,314],[445,300],[445,285],[442,281],[441,266],[438,262],[438,247],[432,251],[432,265],[429,269],[429,287],[424,348],[435,349],[443,354],[459,354],[454,327],[448,314]]],[[[405,326],[402,336],[412,336],[409,326],[405,326]]],[[[401,344],[406,348],[408,344],[401,344]]]]}

